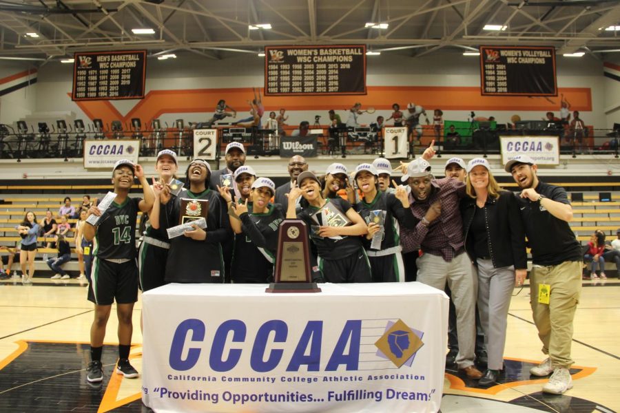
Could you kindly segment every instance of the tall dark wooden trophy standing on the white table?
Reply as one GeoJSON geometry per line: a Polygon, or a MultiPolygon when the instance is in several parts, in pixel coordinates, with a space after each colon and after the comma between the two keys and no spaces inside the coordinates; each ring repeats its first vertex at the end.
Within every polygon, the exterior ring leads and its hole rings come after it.
{"type": "Polygon", "coordinates": [[[284,220],[278,229],[278,249],[274,281],[267,293],[320,293],[311,282],[310,250],[306,224],[302,220],[284,220]]]}

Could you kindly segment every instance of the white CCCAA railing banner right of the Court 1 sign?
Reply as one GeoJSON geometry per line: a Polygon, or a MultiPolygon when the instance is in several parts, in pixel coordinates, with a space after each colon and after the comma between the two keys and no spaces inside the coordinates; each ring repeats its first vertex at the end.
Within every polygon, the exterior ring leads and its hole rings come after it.
{"type": "Polygon", "coordinates": [[[499,136],[502,164],[517,155],[527,155],[536,165],[559,165],[557,136],[499,136]]]}

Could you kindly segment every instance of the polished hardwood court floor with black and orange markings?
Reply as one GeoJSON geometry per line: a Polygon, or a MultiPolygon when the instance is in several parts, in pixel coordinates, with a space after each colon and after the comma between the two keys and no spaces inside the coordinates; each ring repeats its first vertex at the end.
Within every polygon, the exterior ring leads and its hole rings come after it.
{"type": "MultiPolygon", "coordinates": [[[[575,387],[562,396],[541,394],[544,380],[528,370],[544,357],[533,326],[528,288],[515,289],[508,316],[506,374],[491,388],[446,370],[442,412],[613,412],[620,410],[620,282],[584,281],[575,319],[571,369],[575,387]],[[518,294],[517,294],[518,293],[518,294]],[[532,410],[528,410],[532,409],[532,410]]],[[[92,304],[75,280],[35,278],[0,283],[0,412],[147,412],[141,379],[112,373],[116,317],[110,317],[103,350],[105,379],[89,385],[92,304]]],[[[141,302],[134,311],[133,365],[142,371],[141,302]]]]}

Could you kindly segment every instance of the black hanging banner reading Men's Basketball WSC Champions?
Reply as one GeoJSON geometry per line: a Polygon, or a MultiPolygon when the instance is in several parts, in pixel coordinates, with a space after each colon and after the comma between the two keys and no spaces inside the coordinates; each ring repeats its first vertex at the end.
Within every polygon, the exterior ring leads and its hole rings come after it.
{"type": "Polygon", "coordinates": [[[144,98],[146,50],[74,55],[73,100],[144,98]]]}

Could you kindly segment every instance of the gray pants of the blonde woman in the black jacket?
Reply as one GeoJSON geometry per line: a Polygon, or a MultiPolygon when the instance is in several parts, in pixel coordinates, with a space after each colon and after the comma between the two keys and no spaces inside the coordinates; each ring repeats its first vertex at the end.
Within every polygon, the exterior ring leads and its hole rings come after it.
{"type": "Polygon", "coordinates": [[[491,260],[477,260],[478,311],[484,330],[488,368],[502,370],[510,297],[515,289],[515,267],[493,268],[491,260]]]}

